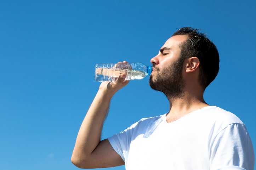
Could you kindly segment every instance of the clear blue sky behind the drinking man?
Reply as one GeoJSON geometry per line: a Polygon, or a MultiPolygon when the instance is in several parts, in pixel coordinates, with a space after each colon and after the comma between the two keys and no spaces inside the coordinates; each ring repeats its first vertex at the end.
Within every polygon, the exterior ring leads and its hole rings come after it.
{"type": "MultiPolygon", "coordinates": [[[[0,169],[78,169],[70,158],[100,85],[95,65],[150,66],[184,26],[207,33],[220,54],[205,101],[237,115],[256,150],[255,9],[252,0],[0,0],[0,169]]],[[[148,79],[116,93],[102,139],[169,111],[148,79]]]]}

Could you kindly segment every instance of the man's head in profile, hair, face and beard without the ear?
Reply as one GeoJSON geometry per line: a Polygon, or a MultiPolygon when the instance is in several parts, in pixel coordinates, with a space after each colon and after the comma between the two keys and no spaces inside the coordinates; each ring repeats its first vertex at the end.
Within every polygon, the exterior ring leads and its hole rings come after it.
{"type": "Polygon", "coordinates": [[[205,34],[187,27],[176,31],[151,59],[156,73],[153,71],[150,75],[150,86],[167,97],[181,96],[185,86],[182,77],[185,59],[198,60],[197,79],[205,90],[219,70],[218,50],[205,34]]]}

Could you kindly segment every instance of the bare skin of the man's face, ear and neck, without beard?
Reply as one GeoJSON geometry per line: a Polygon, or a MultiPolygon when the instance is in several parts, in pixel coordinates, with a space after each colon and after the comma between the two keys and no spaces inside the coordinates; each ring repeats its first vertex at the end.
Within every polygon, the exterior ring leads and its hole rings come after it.
{"type": "MultiPolygon", "coordinates": [[[[187,40],[186,35],[176,35],[169,38],[163,47],[159,50],[158,55],[153,57],[150,62],[159,68],[160,72],[163,68],[172,65],[180,56],[181,49],[178,45],[187,40]]],[[[185,82],[183,89],[184,95],[181,98],[168,97],[170,103],[170,111],[166,115],[168,123],[173,122],[188,113],[200,108],[209,106],[203,98],[204,90],[198,81],[199,60],[197,57],[186,58],[183,62],[182,77],[185,82]]],[[[152,79],[156,75],[156,70],[151,73],[152,79]]]]}

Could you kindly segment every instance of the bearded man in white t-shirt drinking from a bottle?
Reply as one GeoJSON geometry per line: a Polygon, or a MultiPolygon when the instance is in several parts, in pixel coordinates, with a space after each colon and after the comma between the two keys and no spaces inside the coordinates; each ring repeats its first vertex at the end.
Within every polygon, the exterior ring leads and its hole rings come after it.
{"type": "Polygon", "coordinates": [[[215,45],[198,30],[181,28],[151,59],[149,84],[170,102],[167,114],[141,119],[100,141],[110,99],[126,75],[103,82],[76,139],[72,163],[79,168],[124,165],[127,170],[252,170],[254,151],[238,117],[203,98],[219,70],[215,45]]]}

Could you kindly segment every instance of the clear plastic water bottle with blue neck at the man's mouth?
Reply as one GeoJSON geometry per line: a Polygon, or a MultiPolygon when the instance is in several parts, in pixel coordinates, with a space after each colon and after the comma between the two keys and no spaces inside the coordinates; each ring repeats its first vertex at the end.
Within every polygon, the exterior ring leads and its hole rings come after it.
{"type": "Polygon", "coordinates": [[[141,62],[132,63],[109,63],[95,66],[96,81],[116,81],[120,74],[125,73],[125,80],[140,80],[150,75],[151,66],[145,66],[141,62]]]}

